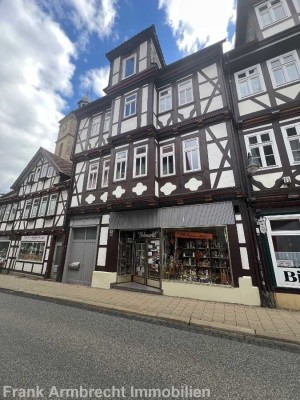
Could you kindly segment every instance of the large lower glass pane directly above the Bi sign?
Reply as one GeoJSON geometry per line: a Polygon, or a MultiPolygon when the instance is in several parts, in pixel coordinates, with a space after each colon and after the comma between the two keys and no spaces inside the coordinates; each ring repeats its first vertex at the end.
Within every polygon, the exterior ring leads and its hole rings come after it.
{"type": "Polygon", "coordinates": [[[272,236],[277,265],[300,267],[300,236],[272,236]]]}

